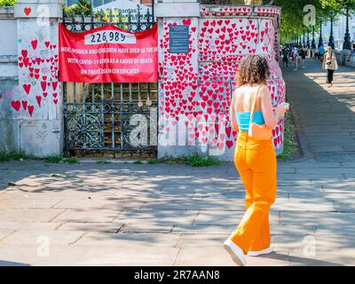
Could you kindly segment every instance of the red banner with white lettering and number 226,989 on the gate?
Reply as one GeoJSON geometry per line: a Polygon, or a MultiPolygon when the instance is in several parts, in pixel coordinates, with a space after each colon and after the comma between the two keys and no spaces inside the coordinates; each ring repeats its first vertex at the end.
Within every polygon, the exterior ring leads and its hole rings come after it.
{"type": "Polygon", "coordinates": [[[59,80],[79,83],[157,82],[157,24],[138,33],[114,25],[72,33],[59,24],[59,80]]]}

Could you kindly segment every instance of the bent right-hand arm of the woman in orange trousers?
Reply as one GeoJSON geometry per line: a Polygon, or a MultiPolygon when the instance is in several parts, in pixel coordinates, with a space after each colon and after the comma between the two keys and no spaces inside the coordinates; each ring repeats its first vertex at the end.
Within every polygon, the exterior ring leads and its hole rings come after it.
{"type": "Polygon", "coordinates": [[[269,88],[267,86],[262,86],[259,91],[259,96],[261,99],[261,111],[264,116],[265,126],[267,128],[273,129],[279,122],[279,117],[285,114],[287,108],[279,105],[275,111],[272,109],[272,98],[270,95],[269,88]]]}

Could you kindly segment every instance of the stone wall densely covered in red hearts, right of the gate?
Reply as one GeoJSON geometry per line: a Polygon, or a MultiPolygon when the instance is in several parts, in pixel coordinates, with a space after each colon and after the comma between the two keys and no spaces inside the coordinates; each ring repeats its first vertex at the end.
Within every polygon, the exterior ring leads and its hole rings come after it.
{"type": "MultiPolygon", "coordinates": [[[[236,132],[229,121],[235,73],[248,54],[264,55],[271,67],[268,86],[273,106],[285,100],[278,57],[277,7],[158,4],[159,117],[158,155],[199,152],[232,160],[236,132]],[[188,13],[188,15],[187,15],[188,13]],[[189,51],[170,52],[170,27],[188,26],[189,51]]],[[[283,151],[284,121],[273,130],[283,151]]]]}

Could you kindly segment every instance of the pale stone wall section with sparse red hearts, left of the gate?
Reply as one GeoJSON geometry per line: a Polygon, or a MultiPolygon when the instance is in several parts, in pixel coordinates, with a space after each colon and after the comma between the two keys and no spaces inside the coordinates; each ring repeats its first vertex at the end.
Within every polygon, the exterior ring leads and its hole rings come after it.
{"type": "Polygon", "coordinates": [[[62,153],[58,78],[59,1],[0,8],[0,151],[62,153]]]}

